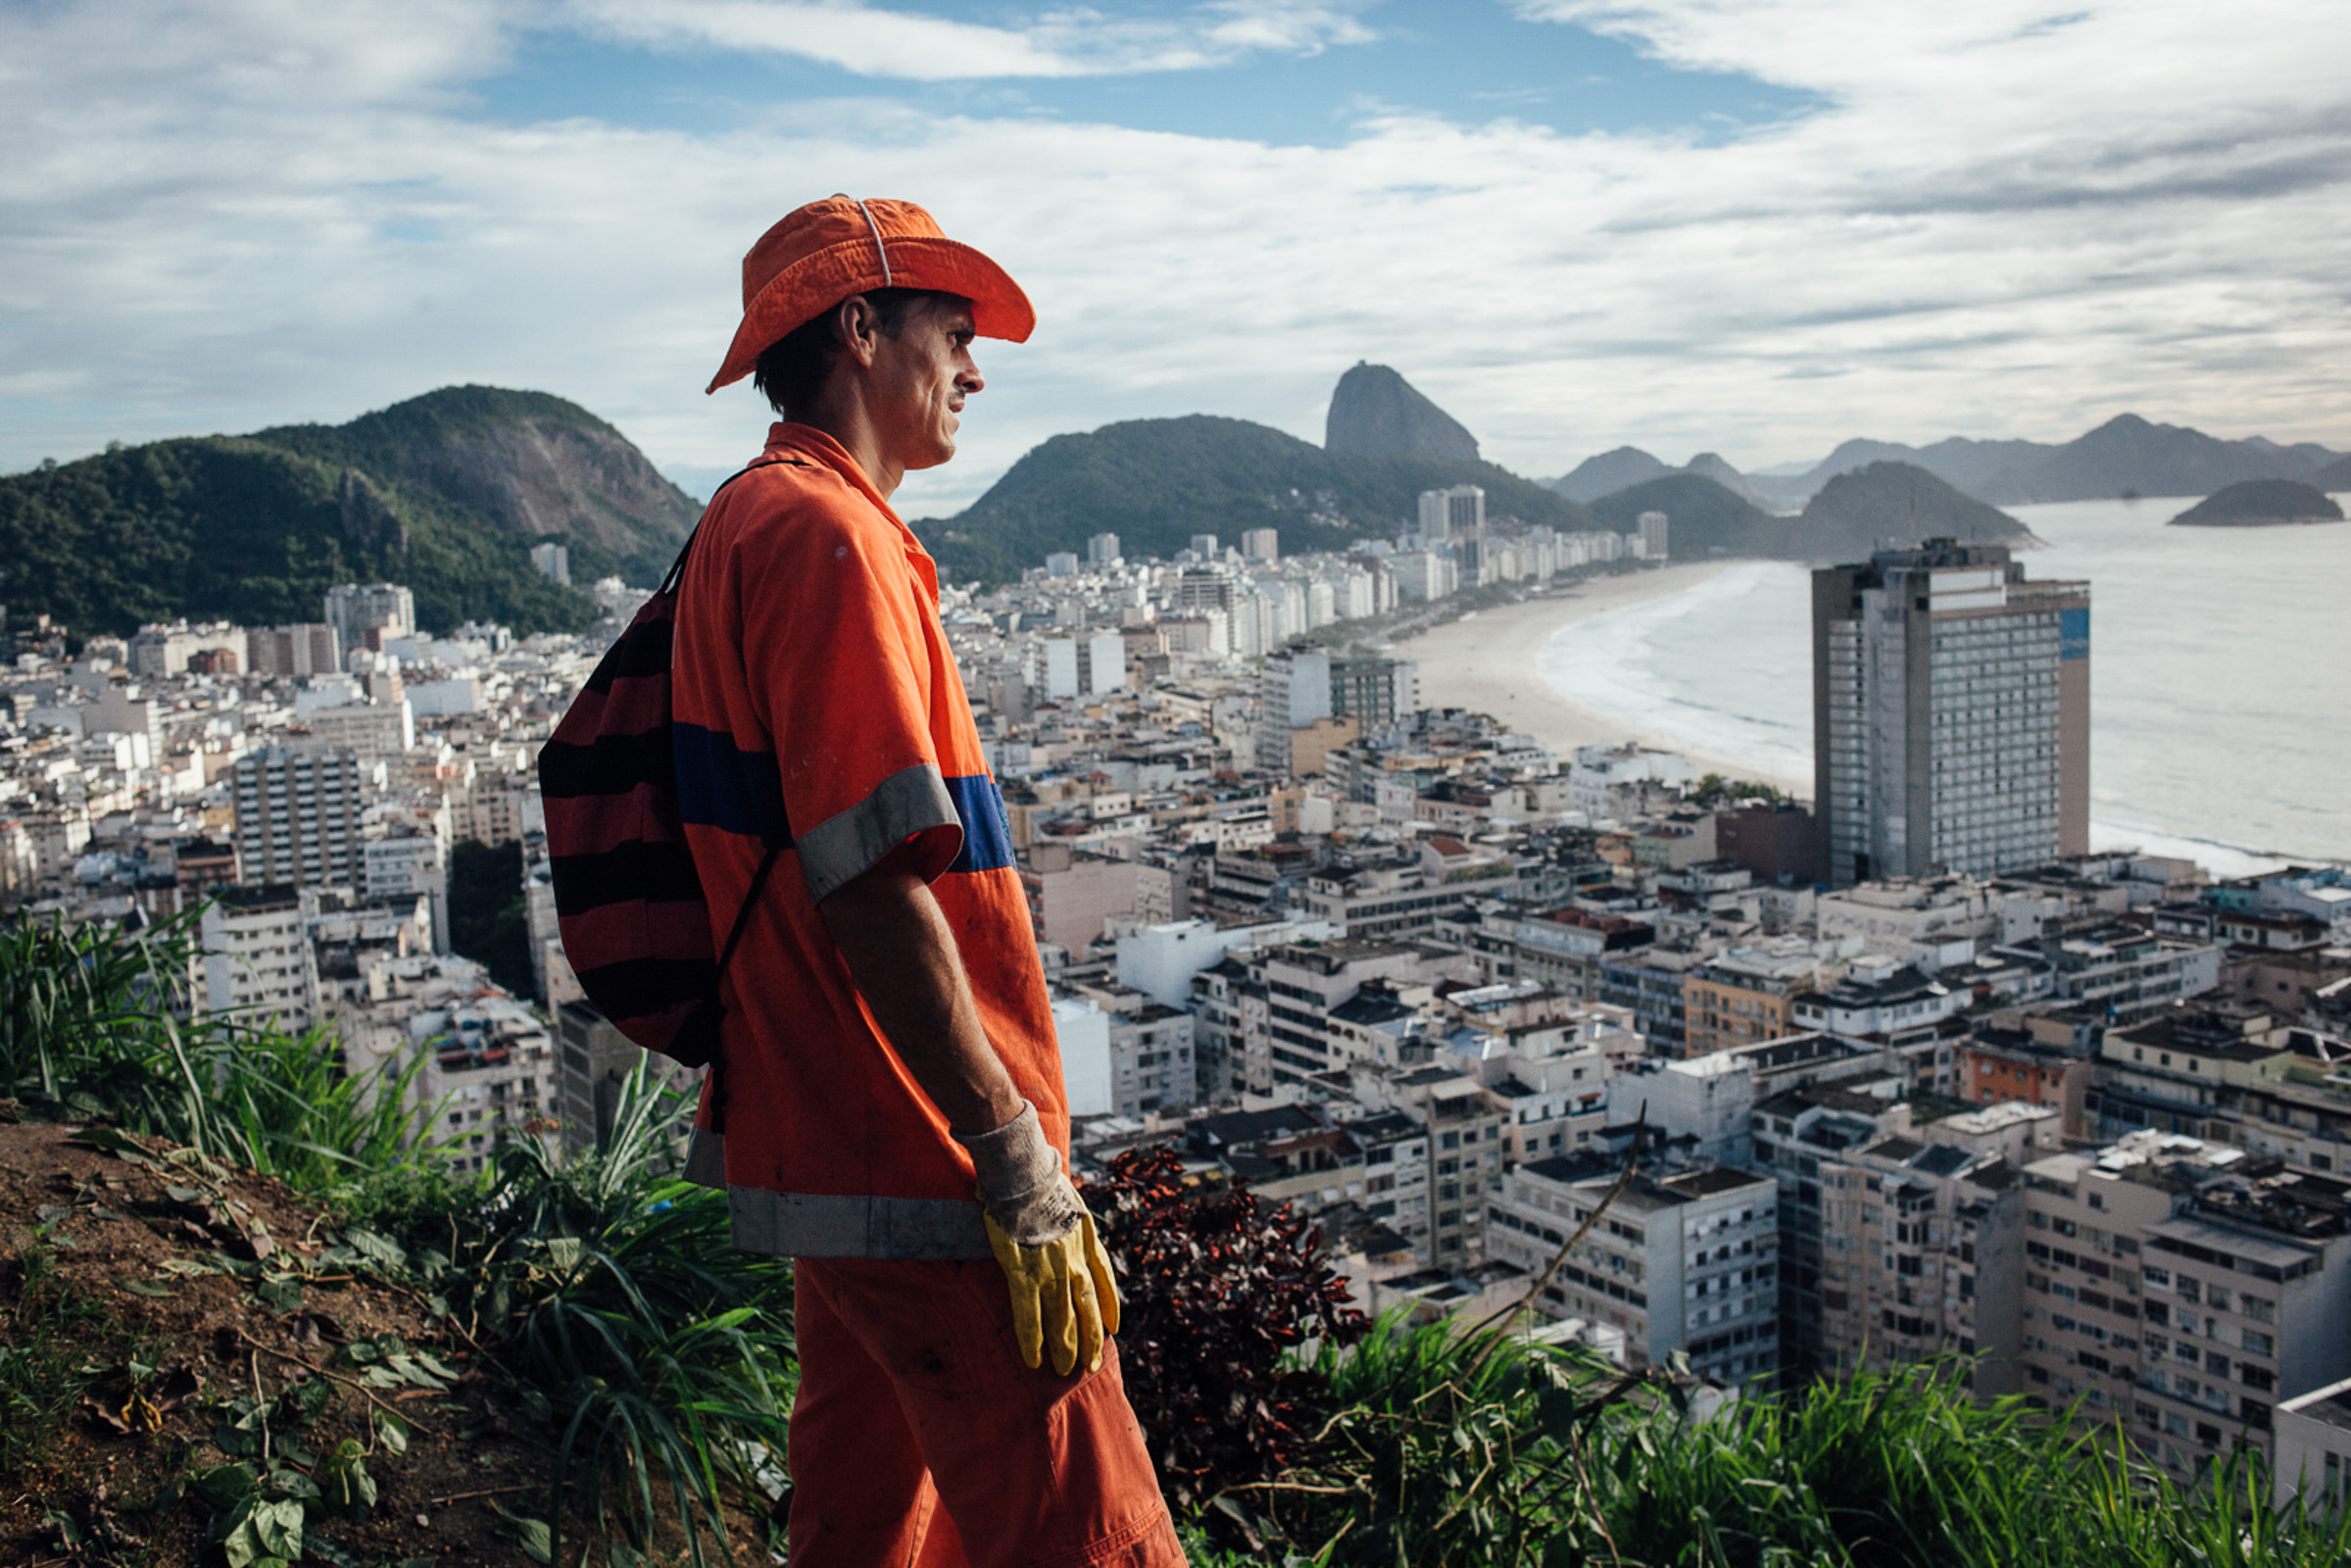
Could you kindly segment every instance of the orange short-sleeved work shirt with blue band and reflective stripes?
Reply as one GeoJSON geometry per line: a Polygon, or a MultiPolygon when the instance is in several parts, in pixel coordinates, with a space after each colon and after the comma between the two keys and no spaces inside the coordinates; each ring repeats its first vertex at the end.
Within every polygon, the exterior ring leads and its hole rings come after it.
{"type": "Polygon", "coordinates": [[[1053,1011],[1004,795],[938,618],[938,567],[823,430],[773,425],[752,473],[703,512],[672,705],[712,931],[734,926],[766,844],[785,844],[726,969],[689,1175],[724,1180],[741,1248],[987,1258],[971,1159],[816,905],[915,844],[987,1039],[1067,1159],[1053,1011]]]}

